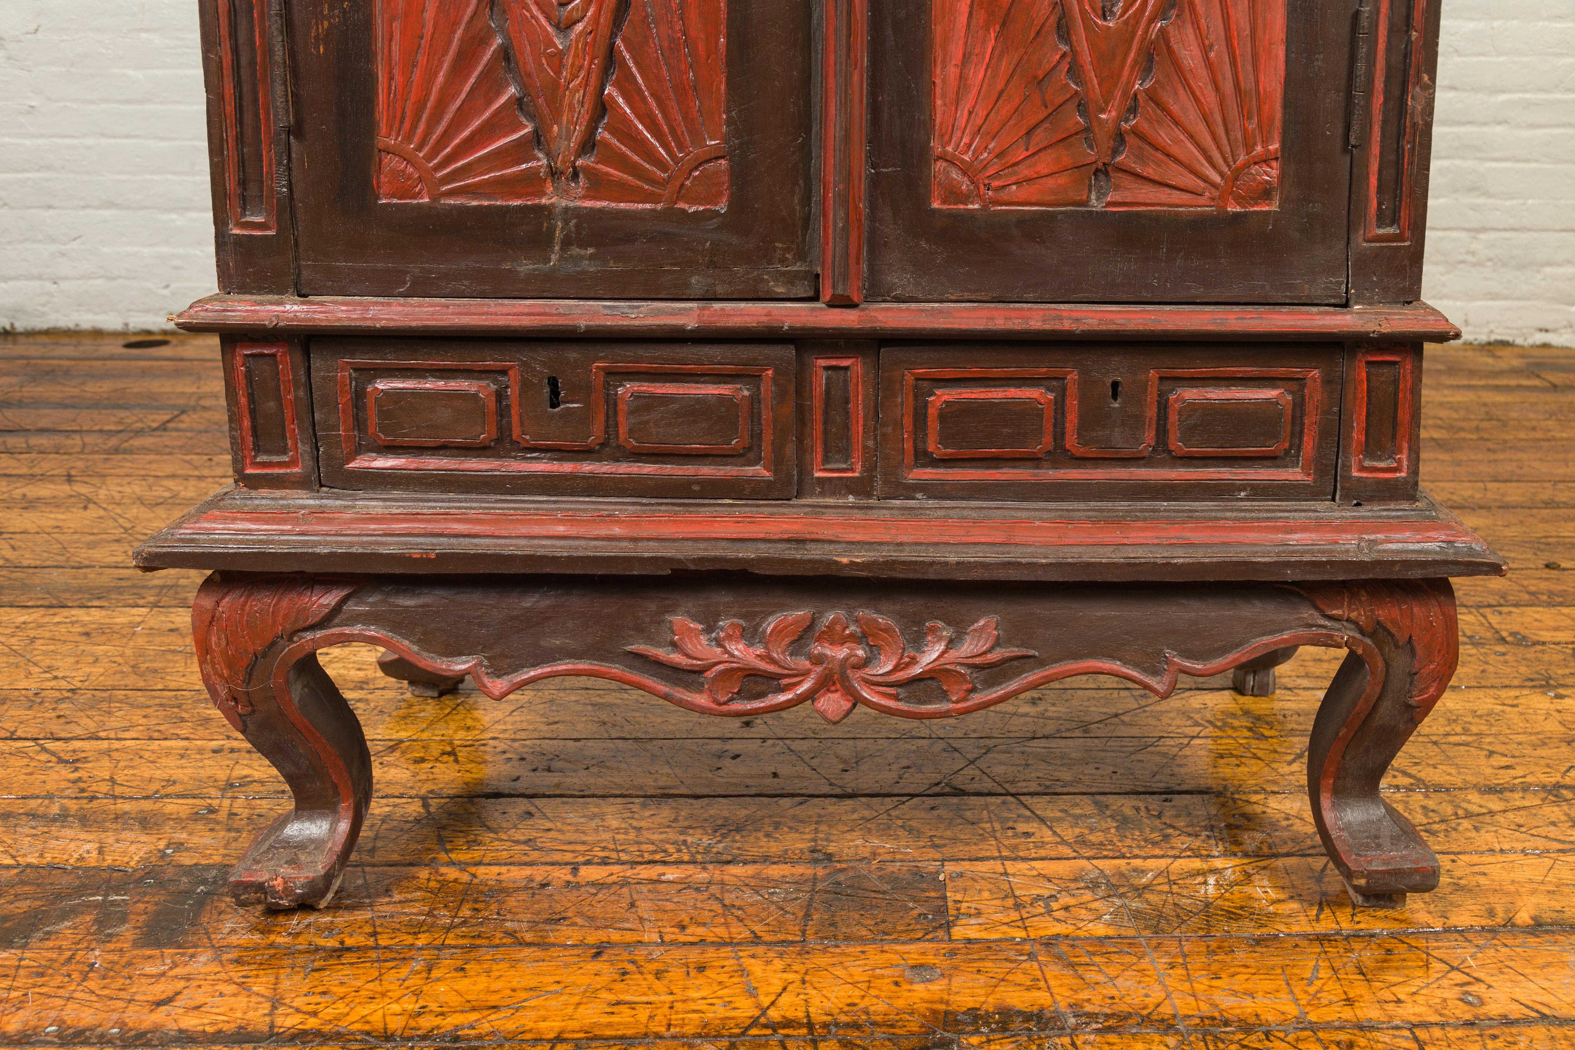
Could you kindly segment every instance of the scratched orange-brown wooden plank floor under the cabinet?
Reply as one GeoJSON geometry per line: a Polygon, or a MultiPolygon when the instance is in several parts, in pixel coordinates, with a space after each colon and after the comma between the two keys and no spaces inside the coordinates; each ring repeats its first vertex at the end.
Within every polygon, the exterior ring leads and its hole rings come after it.
{"type": "Polygon", "coordinates": [[[0,338],[0,1045],[1575,1047],[1575,351],[1427,357],[1422,474],[1509,559],[1392,801],[1443,886],[1356,911],[1273,699],[1074,680],[954,724],[743,723],[324,656],[376,800],[323,911],[241,910],[285,801],[208,705],[197,573],[129,549],[228,474],[211,340],[0,338]]]}

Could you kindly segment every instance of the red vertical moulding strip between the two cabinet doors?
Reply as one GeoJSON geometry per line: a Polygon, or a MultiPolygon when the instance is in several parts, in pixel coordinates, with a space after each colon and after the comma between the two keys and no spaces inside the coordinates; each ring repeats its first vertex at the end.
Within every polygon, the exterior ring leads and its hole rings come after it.
{"type": "Polygon", "coordinates": [[[821,98],[821,301],[858,305],[865,298],[865,139],[869,0],[822,5],[821,98]]]}

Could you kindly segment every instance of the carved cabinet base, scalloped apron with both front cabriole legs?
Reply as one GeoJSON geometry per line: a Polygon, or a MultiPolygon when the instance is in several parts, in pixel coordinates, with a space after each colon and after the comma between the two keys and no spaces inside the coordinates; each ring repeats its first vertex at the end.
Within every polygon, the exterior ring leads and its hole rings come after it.
{"type": "Polygon", "coordinates": [[[239,904],[321,907],[354,849],[372,760],[317,661],[345,642],[383,645],[395,678],[436,688],[468,675],[493,699],[583,675],[699,715],[810,704],[833,723],[959,718],[1085,674],[1164,697],[1181,674],[1262,669],[1298,645],[1343,649],[1307,746],[1318,834],[1359,905],[1394,907],[1438,885],[1436,856],[1380,781],[1455,671],[1447,579],[978,586],[224,571],[202,586],[192,622],[214,705],[295,797],[232,872],[239,904]]]}

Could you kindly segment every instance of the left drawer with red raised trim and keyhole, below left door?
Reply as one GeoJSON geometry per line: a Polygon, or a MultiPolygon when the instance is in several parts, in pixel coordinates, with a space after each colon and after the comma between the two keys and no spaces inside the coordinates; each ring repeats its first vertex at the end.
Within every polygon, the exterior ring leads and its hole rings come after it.
{"type": "Polygon", "coordinates": [[[794,349],[320,338],[323,485],[786,499],[794,349]]]}

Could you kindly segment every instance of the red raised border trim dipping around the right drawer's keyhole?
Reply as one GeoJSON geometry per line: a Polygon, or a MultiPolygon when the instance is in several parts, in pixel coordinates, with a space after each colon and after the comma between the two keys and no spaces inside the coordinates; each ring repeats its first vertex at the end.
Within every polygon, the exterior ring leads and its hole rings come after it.
{"type": "MultiPolygon", "coordinates": [[[[1317,368],[1153,368],[1148,373],[1148,389],[1143,406],[1147,414],[1143,444],[1137,449],[1093,449],[1077,441],[1077,372],[1073,368],[909,368],[902,376],[902,468],[904,477],[918,480],[1268,480],[1306,482],[1312,479],[1314,458],[1318,449],[1318,414],[1321,408],[1323,376],[1317,368]],[[1265,471],[1249,469],[1140,469],[1140,468],[1049,468],[1044,471],[991,471],[962,468],[915,466],[915,378],[925,379],[1063,379],[1066,383],[1066,450],[1074,457],[1099,460],[1140,460],[1154,447],[1159,428],[1159,381],[1161,379],[1301,379],[1306,383],[1306,406],[1303,423],[1301,463],[1296,469],[1265,471]]],[[[934,442],[934,438],[931,438],[934,442]]]]}

